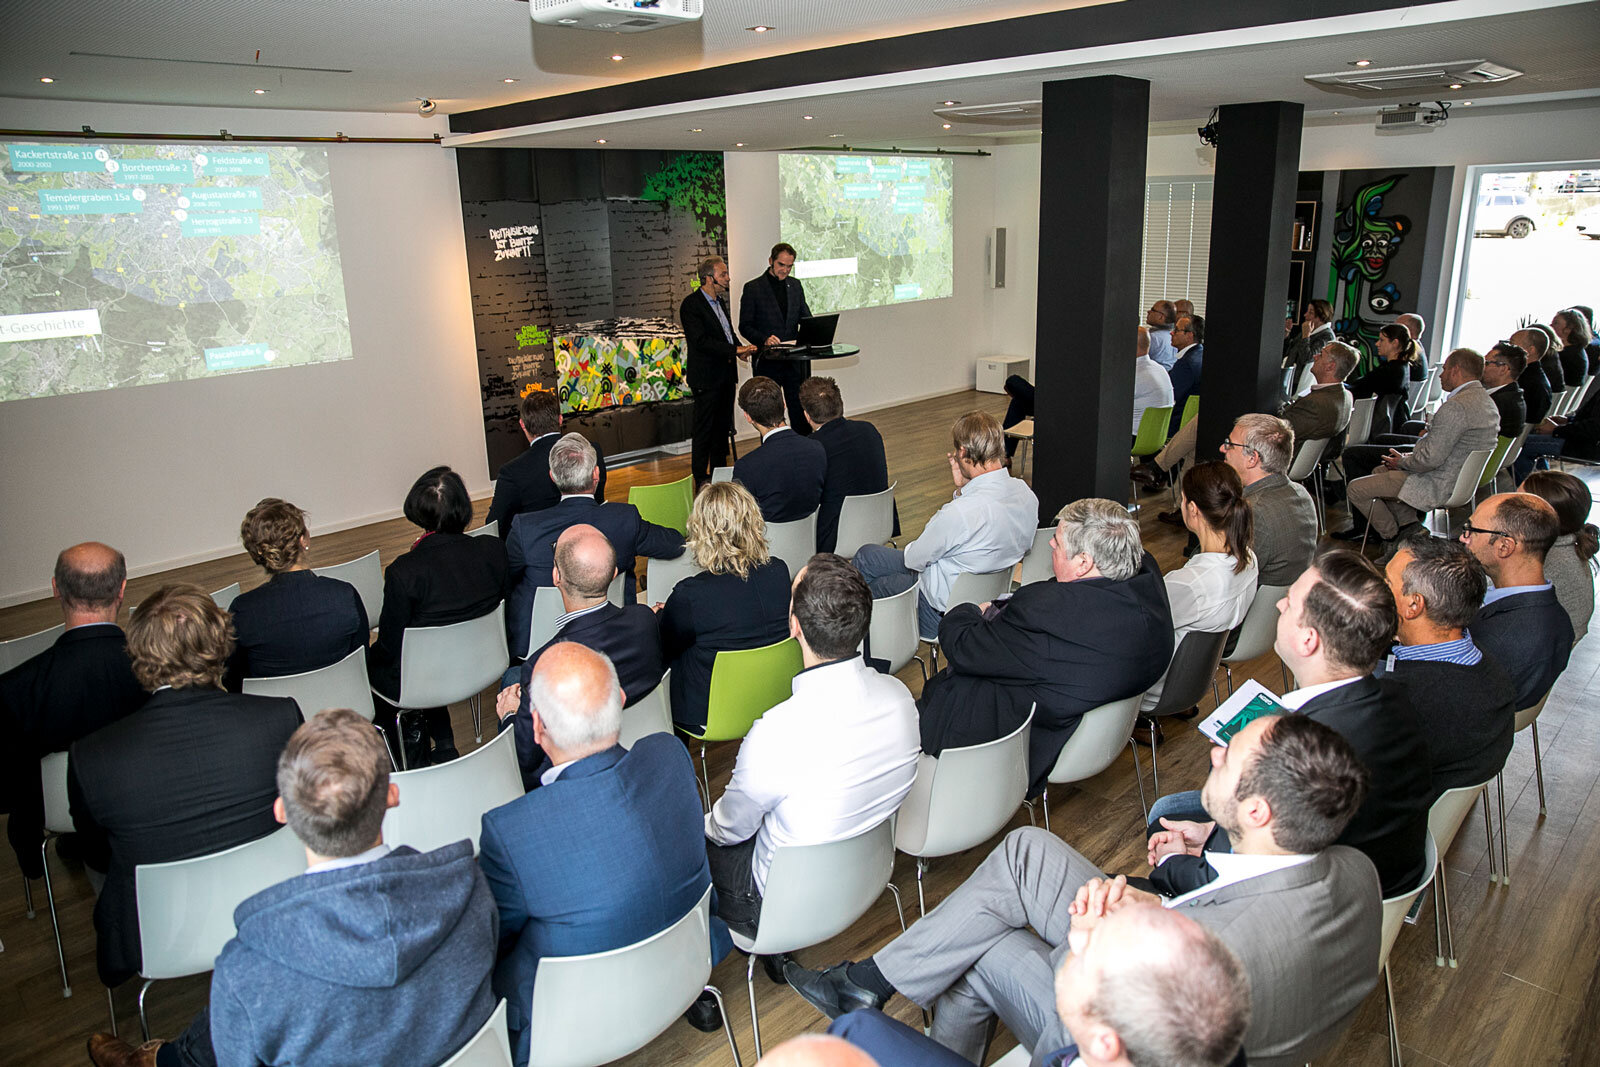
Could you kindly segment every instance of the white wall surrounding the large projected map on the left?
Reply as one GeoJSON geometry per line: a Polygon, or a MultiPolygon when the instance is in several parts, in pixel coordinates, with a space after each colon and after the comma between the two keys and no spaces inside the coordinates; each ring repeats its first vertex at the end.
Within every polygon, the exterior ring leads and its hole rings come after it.
{"type": "MultiPolygon", "coordinates": [[[[6,125],[118,133],[429,136],[414,115],[0,101],[6,125]]],[[[0,603],[48,595],[101,539],[133,573],[238,550],[262,496],[314,531],[398,514],[450,464],[488,490],[454,152],[330,144],[355,358],[0,406],[0,603]]]]}

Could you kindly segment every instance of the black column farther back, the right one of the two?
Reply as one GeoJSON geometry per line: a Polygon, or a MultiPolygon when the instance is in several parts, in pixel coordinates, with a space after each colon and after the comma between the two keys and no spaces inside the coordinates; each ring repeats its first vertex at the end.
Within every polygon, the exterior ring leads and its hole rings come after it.
{"type": "Polygon", "coordinates": [[[1304,110],[1274,101],[1218,112],[1197,459],[1218,458],[1238,416],[1277,411],[1304,110]]]}

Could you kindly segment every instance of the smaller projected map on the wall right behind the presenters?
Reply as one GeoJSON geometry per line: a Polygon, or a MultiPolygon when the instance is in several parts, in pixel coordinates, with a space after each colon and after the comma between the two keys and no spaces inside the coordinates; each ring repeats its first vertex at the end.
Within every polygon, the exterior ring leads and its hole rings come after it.
{"type": "Polygon", "coordinates": [[[778,157],[778,234],[813,310],[950,296],[950,160],[778,157]]]}

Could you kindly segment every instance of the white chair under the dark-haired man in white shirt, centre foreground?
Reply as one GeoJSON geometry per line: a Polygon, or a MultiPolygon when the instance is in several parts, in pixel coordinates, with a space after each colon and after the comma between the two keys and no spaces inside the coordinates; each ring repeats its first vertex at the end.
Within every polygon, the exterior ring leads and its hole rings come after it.
{"type": "Polygon", "coordinates": [[[894,873],[894,830],[890,822],[885,819],[842,841],[781,845],[773,851],[755,937],[730,931],[733,944],[750,955],[744,984],[750,993],[757,1059],[762,1057],[762,1016],[755,1006],[755,957],[798,952],[845,933],[885,889],[894,896],[894,912],[901,929],[906,929],[899,889],[890,881],[894,873]]]}

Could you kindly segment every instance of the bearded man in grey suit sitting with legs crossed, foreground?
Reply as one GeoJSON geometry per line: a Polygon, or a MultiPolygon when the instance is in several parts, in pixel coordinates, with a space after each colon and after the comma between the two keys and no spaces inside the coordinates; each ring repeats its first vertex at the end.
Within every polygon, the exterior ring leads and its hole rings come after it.
{"type": "Polygon", "coordinates": [[[1333,1045],[1378,982],[1376,870],[1355,849],[1330,848],[1365,792],[1366,771],[1334,729],[1304,715],[1261,718],[1213,749],[1203,790],[1235,851],[1203,853],[1182,835],[1152,840],[1157,864],[1200,856],[1213,875],[1206,885],[1160,897],[1122,877],[1107,883],[1061,838],[1026,827],[877,955],[826,971],[790,961],[784,974],[829,1016],[882,1008],[896,990],[936,1005],[931,1037],[974,1064],[998,1014],[1038,1067],[1066,1043],[1051,976],[1069,934],[1107,909],[1158,902],[1214,933],[1245,965],[1248,1061],[1304,1064],[1333,1045]]]}

